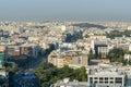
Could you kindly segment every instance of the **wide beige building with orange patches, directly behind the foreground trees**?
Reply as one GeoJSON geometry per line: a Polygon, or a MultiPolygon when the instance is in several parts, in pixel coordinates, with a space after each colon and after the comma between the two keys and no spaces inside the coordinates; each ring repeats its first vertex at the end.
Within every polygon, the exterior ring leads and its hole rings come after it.
{"type": "Polygon", "coordinates": [[[87,54],[82,53],[82,51],[67,51],[59,53],[55,51],[48,57],[48,62],[52,63],[57,67],[62,67],[63,65],[69,65],[71,67],[81,67],[88,65],[87,54]]]}

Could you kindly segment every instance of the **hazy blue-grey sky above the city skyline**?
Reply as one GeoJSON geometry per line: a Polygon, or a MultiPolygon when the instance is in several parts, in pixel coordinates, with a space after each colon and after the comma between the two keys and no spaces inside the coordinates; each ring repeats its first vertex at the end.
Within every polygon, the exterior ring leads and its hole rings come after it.
{"type": "Polygon", "coordinates": [[[131,22],[131,0],[0,0],[0,20],[131,22]]]}

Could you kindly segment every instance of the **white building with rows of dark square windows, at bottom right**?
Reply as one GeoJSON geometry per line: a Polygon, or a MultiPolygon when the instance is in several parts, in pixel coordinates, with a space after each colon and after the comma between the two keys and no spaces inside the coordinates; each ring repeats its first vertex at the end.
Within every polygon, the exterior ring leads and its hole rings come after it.
{"type": "Polygon", "coordinates": [[[91,87],[123,87],[126,75],[112,71],[98,71],[88,75],[91,87]]]}

